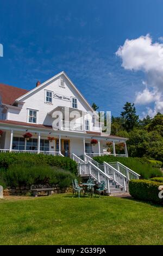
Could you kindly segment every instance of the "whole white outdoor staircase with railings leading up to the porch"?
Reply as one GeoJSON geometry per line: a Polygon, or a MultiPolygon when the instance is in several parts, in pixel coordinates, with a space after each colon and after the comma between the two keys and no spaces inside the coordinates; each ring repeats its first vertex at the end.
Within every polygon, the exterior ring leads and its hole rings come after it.
{"type": "Polygon", "coordinates": [[[83,178],[93,178],[98,185],[105,181],[105,193],[109,196],[115,193],[128,192],[130,179],[139,179],[139,174],[124,166],[120,162],[99,164],[90,156],[84,155],[84,160],[72,154],[72,159],[78,163],[79,175],[83,178]]]}

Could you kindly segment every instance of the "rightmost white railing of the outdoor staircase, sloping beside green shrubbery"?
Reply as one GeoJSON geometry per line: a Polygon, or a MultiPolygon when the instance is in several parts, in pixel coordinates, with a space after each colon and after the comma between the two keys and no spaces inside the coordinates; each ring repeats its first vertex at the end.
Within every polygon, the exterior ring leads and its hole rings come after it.
{"type": "Polygon", "coordinates": [[[109,164],[110,164],[110,166],[117,169],[120,173],[125,175],[128,180],[133,180],[133,179],[135,180],[135,179],[139,179],[139,177],[140,177],[140,175],[138,173],[135,173],[134,170],[131,170],[130,168],[128,168],[127,166],[124,166],[124,164],[122,164],[120,162],[112,162],[109,164]]]}

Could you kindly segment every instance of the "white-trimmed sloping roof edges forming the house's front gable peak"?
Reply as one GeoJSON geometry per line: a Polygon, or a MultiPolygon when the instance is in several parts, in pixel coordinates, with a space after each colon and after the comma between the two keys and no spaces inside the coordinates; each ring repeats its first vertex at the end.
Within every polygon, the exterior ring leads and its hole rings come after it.
{"type": "MultiPolygon", "coordinates": [[[[86,105],[91,109],[92,112],[95,112],[94,109],[91,107],[91,105],[89,104],[89,102],[87,102],[87,100],[85,99],[85,97],[79,92],[79,90],[77,89],[77,87],[74,85],[74,83],[70,80],[70,78],[66,75],[65,71],[60,72],[59,74],[53,76],[52,78],[50,78],[49,80],[45,81],[44,83],[41,83],[40,86],[35,87],[34,89],[30,90],[29,92],[27,92],[26,94],[24,94],[23,96],[18,97],[18,99],[16,99],[17,101],[22,101],[24,97],[32,94],[33,92],[39,90],[41,87],[46,86],[46,84],[48,84],[49,82],[53,81],[54,79],[60,77],[61,75],[64,75],[68,82],[70,82],[71,86],[76,90],[76,92],[78,93],[78,95],[82,98],[82,100],[86,103],[86,105]]],[[[96,114],[96,112],[95,112],[96,114]]],[[[97,115],[97,114],[96,114],[97,115]]],[[[97,115],[98,116],[98,115],[97,115]]]]}

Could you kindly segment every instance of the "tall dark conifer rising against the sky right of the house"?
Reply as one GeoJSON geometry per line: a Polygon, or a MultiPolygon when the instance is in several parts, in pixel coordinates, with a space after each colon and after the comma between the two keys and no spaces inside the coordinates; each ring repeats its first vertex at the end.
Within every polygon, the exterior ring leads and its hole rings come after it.
{"type": "Polygon", "coordinates": [[[123,107],[124,111],[121,112],[123,118],[123,127],[126,131],[131,131],[138,125],[139,115],[136,115],[134,103],[126,102],[123,107]]]}

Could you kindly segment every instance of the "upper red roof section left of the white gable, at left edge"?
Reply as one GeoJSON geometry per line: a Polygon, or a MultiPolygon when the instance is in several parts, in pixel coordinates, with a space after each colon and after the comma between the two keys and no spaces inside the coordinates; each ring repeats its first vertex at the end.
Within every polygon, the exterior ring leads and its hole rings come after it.
{"type": "Polygon", "coordinates": [[[28,93],[28,90],[0,83],[0,95],[4,104],[12,105],[18,97],[26,93],[28,93]]]}

